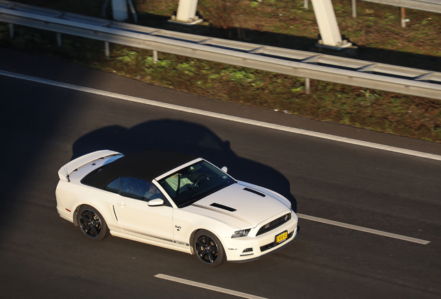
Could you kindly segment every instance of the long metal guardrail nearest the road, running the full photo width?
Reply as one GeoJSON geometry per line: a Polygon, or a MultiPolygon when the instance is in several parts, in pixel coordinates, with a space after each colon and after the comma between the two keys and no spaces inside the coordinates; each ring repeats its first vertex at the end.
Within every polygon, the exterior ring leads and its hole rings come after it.
{"type": "Polygon", "coordinates": [[[441,73],[235,42],[0,0],[0,21],[103,42],[441,100],[441,73]]]}

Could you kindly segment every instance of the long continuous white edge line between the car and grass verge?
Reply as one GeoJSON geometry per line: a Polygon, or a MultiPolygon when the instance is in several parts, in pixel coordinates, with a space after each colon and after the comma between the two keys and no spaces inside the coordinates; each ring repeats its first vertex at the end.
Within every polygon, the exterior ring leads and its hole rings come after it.
{"type": "Polygon", "coordinates": [[[184,112],[188,112],[191,114],[198,114],[198,115],[202,115],[202,116],[209,116],[212,118],[220,118],[223,120],[231,120],[234,121],[236,123],[244,123],[244,124],[248,124],[248,125],[256,125],[258,127],[266,127],[266,128],[270,128],[270,129],[277,129],[279,131],[285,131],[285,132],[291,132],[291,133],[295,133],[295,134],[302,134],[302,135],[306,135],[306,136],[313,136],[313,137],[318,137],[318,138],[323,138],[323,139],[329,139],[331,141],[338,141],[341,143],[349,143],[349,144],[353,144],[353,145],[361,145],[364,147],[371,147],[371,148],[375,148],[375,149],[383,149],[389,152],[397,152],[400,154],[408,154],[410,156],[419,156],[422,158],[430,158],[433,160],[438,160],[441,161],[441,156],[437,155],[437,154],[429,154],[429,153],[425,153],[425,152],[418,152],[418,151],[414,151],[411,149],[403,149],[400,147],[392,147],[389,145],[381,145],[379,143],[371,143],[371,142],[367,142],[367,141],[358,141],[356,139],[352,139],[352,138],[345,138],[345,137],[341,137],[341,136],[335,136],[335,135],[330,135],[330,134],[325,134],[325,133],[319,133],[319,132],[313,132],[313,131],[308,131],[305,129],[297,129],[294,127],[286,127],[284,125],[275,125],[272,123],[265,123],[265,122],[261,122],[259,120],[250,120],[248,118],[240,118],[237,116],[229,116],[226,114],[218,114],[216,112],[210,112],[210,111],[204,111],[204,110],[200,110],[200,109],[195,109],[195,108],[189,108],[189,107],[183,107],[183,106],[179,106],[179,105],[173,105],[173,104],[166,104],[163,102],[156,102],[154,100],[146,100],[144,98],[137,98],[137,97],[133,97],[133,96],[126,96],[120,93],[112,93],[110,91],[101,91],[98,89],[92,89],[89,87],[80,87],[78,85],[73,85],[73,84],[68,84],[68,83],[62,83],[62,82],[56,82],[56,81],[52,81],[52,80],[46,80],[46,79],[42,79],[42,78],[36,78],[36,77],[32,77],[32,76],[28,76],[28,75],[21,75],[21,74],[17,74],[17,73],[11,73],[8,71],[0,71],[0,75],[5,75],[8,77],[12,77],[12,78],[17,78],[17,79],[21,79],[21,80],[28,80],[28,81],[33,81],[33,82],[38,82],[38,83],[42,83],[42,84],[49,84],[55,87],[62,87],[62,88],[67,88],[67,89],[74,89],[76,91],[83,91],[83,92],[87,92],[87,93],[93,93],[99,96],[107,96],[110,98],[117,98],[117,99],[121,99],[121,100],[129,100],[131,102],[139,102],[139,103],[143,103],[146,105],[151,105],[151,106],[156,106],[156,107],[162,107],[162,108],[166,108],[166,109],[173,109],[173,110],[178,110],[178,111],[184,111],[184,112]]]}

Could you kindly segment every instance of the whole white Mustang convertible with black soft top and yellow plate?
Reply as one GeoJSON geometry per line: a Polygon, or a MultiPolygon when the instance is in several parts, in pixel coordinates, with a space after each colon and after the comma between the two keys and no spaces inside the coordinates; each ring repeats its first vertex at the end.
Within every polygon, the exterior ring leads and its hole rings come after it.
{"type": "Polygon", "coordinates": [[[101,150],[70,161],[58,176],[59,215],[92,240],[110,233],[218,266],[256,260],[300,234],[282,195],[188,154],[101,150]]]}

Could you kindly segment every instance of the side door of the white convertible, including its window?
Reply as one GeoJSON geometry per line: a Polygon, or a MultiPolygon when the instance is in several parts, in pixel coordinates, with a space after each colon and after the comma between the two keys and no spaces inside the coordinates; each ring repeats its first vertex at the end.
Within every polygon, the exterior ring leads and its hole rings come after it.
{"type": "Polygon", "coordinates": [[[120,192],[113,200],[116,219],[127,235],[173,244],[173,208],[167,202],[148,206],[148,199],[141,196],[148,191],[142,190],[146,184],[139,179],[120,178],[120,192]]]}

